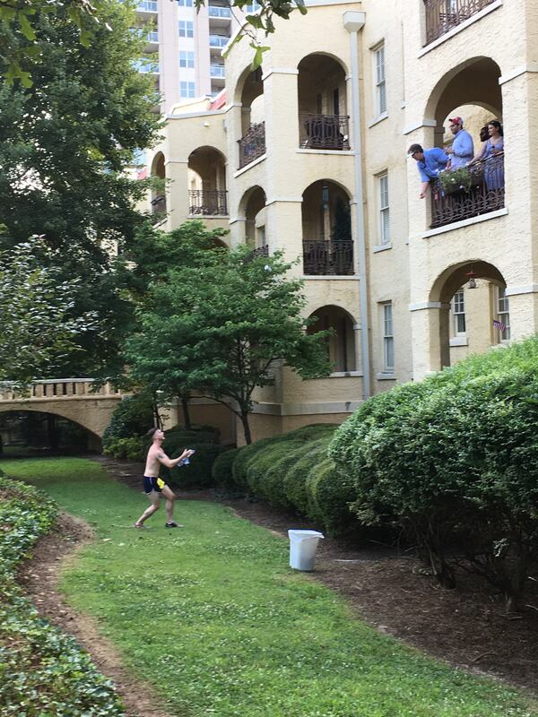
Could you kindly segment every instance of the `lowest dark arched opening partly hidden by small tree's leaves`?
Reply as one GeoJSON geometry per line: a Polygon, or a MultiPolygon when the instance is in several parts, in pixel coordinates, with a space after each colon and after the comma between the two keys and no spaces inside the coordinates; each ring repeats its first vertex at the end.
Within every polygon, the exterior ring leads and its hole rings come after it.
{"type": "Polygon", "coordinates": [[[330,330],[326,339],[327,357],[333,364],[333,373],[350,373],[357,370],[355,350],[354,322],[351,315],[341,307],[325,306],[314,311],[309,318],[317,318],[315,324],[308,326],[308,333],[330,330]]]}

